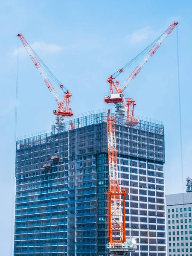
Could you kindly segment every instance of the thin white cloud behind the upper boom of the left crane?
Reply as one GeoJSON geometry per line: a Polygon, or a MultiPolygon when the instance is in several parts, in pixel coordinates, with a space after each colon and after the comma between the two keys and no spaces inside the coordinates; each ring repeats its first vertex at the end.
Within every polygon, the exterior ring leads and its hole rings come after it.
{"type": "MultiPolygon", "coordinates": [[[[35,42],[33,44],[30,44],[32,49],[35,50],[41,50],[41,52],[59,52],[63,48],[61,45],[58,44],[46,44],[43,41],[41,42],[35,42]]],[[[22,46],[19,47],[19,53],[26,52],[26,49],[22,46]]],[[[17,49],[13,52],[13,55],[17,55],[17,49]]]]}

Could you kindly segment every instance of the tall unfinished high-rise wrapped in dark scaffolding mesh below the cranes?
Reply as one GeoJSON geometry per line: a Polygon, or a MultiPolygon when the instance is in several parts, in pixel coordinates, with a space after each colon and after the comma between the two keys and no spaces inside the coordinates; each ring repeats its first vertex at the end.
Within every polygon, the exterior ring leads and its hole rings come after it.
{"type": "MultiPolygon", "coordinates": [[[[108,256],[106,116],[85,113],[18,139],[14,256],[108,256]]],[[[139,119],[116,119],[126,236],[137,238],[134,256],[166,256],[164,126],[139,119]]]]}

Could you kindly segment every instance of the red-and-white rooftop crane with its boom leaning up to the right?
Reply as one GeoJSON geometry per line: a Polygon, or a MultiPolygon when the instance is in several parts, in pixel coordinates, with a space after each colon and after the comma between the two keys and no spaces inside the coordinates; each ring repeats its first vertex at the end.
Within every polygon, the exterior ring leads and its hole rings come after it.
{"type": "Polygon", "coordinates": [[[155,41],[153,41],[148,47],[146,47],[140,54],[138,54],[134,59],[128,62],[125,66],[117,70],[113,75],[108,77],[107,81],[110,84],[110,96],[105,96],[105,103],[113,103],[117,105],[116,114],[123,115],[125,111],[127,111],[127,123],[126,125],[137,125],[139,120],[134,118],[134,106],[136,103],[129,98],[129,100],[125,101],[123,92],[128,87],[128,85],[133,81],[133,79],[138,75],[138,73],[143,69],[144,65],[148,62],[148,60],[154,55],[154,53],[159,49],[161,44],[166,40],[172,30],[177,26],[178,22],[172,23],[169,28],[161,34],[155,41]],[[117,76],[123,73],[128,69],[135,61],[137,61],[141,56],[143,56],[146,52],[148,52],[145,57],[140,61],[140,64],[135,68],[135,70],[129,75],[125,81],[120,84],[118,80],[114,81],[117,76]],[[133,103],[134,102],[134,103],[133,103]]]}

